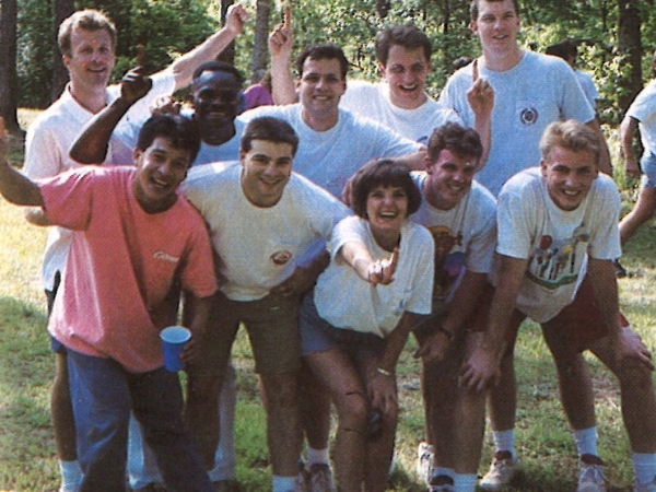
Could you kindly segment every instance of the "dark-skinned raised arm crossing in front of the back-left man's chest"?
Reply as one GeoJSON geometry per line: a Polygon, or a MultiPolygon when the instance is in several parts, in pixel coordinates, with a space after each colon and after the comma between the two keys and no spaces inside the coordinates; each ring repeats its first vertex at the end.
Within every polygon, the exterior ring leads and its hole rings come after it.
{"type": "Polygon", "coordinates": [[[142,74],[141,68],[126,73],[120,82],[120,96],[84,126],[69,151],[71,159],[81,164],[104,162],[116,125],[137,101],[148,94],[152,84],[152,80],[142,74]]]}

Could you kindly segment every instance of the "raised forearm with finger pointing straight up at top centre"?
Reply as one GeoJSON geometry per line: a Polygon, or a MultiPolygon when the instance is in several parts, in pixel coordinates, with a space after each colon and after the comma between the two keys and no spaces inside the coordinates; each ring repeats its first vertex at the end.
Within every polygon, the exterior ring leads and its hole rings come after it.
{"type": "Polygon", "coordinates": [[[294,46],[292,28],[292,8],[284,8],[284,21],[269,36],[271,54],[271,90],[276,104],[296,102],[296,87],[292,77],[292,48],[294,46]]]}

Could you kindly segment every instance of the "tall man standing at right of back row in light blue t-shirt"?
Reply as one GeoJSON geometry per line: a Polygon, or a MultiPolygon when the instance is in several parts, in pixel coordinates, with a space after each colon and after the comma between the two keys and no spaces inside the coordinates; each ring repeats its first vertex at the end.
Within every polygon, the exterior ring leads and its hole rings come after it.
{"type": "MultiPolygon", "coordinates": [[[[599,171],[610,174],[608,149],[595,110],[572,69],[561,59],[519,47],[518,0],[473,0],[470,14],[471,31],[482,48],[478,58],[480,78],[494,89],[492,145],[477,180],[496,196],[511,176],[540,161],[539,141],[544,129],[562,119],[575,119],[590,127],[600,141],[599,171]]],[[[475,68],[471,63],[458,70],[440,96],[440,102],[454,108],[466,125],[473,121],[466,94],[475,68]]],[[[515,473],[513,347],[514,340],[508,343],[502,361],[500,384],[488,397],[497,453],[481,485],[493,490],[507,483],[515,473]]]]}

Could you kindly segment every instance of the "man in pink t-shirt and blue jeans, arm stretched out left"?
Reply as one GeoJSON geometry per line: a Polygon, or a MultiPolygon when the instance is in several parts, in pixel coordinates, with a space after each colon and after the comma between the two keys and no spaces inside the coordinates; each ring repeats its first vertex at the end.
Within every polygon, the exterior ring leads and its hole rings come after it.
{"type": "Polygon", "coordinates": [[[192,362],[216,289],[204,223],[177,192],[199,145],[194,124],[155,116],[140,132],[136,167],[86,167],[35,183],[7,163],[0,120],[0,192],[73,231],[48,330],[68,352],[81,492],[125,487],[130,410],[168,490],[212,490],[159,339],[176,323],[169,294],[179,283],[195,306],[181,355],[192,362]]]}

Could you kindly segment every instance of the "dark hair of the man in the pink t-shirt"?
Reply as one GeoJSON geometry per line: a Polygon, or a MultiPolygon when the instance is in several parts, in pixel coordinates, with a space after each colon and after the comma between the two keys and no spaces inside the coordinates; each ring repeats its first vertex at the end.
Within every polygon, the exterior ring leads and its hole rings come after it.
{"type": "Polygon", "coordinates": [[[157,137],[171,141],[176,149],[189,152],[189,165],[194,163],[200,150],[200,133],[192,120],[179,115],[153,115],[141,127],[137,149],[147,150],[157,137]]]}

